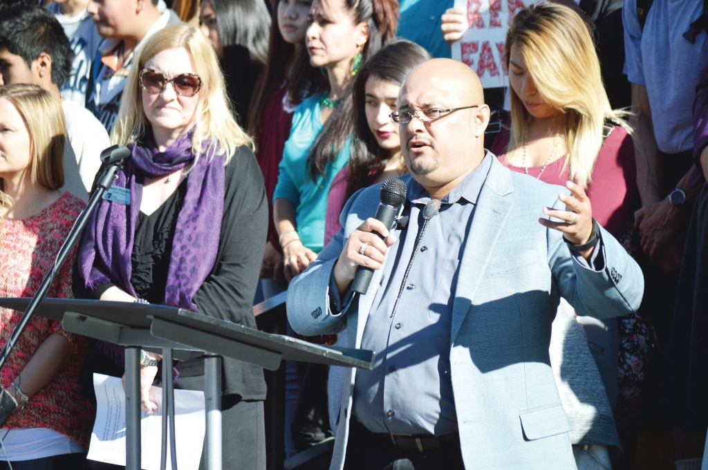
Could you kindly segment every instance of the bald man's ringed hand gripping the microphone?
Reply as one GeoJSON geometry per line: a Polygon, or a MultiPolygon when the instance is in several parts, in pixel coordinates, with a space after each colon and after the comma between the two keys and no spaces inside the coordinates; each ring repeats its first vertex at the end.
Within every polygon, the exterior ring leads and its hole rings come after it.
{"type": "Polygon", "coordinates": [[[366,219],[353,231],[334,265],[334,282],[339,294],[343,295],[348,290],[359,266],[383,268],[386,251],[394,243],[396,236],[386,229],[383,222],[374,218],[366,219]],[[379,234],[385,238],[382,240],[379,234]]]}

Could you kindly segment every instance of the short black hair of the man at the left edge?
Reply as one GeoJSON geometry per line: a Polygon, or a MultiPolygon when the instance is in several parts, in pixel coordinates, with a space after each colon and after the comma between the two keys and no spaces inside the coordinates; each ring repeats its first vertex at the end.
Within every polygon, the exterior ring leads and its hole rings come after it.
{"type": "Polygon", "coordinates": [[[39,6],[0,8],[0,48],[32,67],[42,52],[52,57],[52,83],[61,87],[72,74],[74,51],[54,13],[39,6]]]}

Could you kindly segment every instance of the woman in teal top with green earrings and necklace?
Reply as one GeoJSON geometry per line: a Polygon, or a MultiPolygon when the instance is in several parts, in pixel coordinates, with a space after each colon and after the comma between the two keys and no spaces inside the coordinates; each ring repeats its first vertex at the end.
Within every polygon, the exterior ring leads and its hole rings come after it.
{"type": "Polygon", "coordinates": [[[324,247],[324,219],[332,179],[350,154],[350,82],[360,64],[396,35],[396,0],[315,0],[305,44],[329,92],[300,103],[285,142],[273,222],[288,282],[324,247]]]}

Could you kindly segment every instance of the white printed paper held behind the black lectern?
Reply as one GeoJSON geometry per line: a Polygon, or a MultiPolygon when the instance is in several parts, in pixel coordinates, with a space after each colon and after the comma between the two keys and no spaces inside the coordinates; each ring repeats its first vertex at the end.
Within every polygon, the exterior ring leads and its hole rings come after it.
{"type": "MultiPolygon", "coordinates": [[[[125,465],[125,392],[118,377],[93,374],[96,389],[96,424],[93,425],[89,459],[125,465]]],[[[159,470],[162,435],[162,389],[154,386],[150,398],[157,411],[141,418],[142,468],[159,470]]],[[[198,470],[205,433],[204,392],[175,390],[175,440],[179,470],[198,470]]],[[[167,468],[169,459],[169,440],[167,468]]]]}

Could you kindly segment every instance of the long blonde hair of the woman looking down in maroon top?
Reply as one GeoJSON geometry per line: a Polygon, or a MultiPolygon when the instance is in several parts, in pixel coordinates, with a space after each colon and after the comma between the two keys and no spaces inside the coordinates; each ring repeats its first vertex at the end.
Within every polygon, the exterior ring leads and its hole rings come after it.
{"type": "MultiPolygon", "coordinates": [[[[603,145],[605,121],[630,129],[624,121],[628,113],[612,110],[607,99],[586,23],[567,6],[541,1],[515,16],[506,34],[507,69],[513,44],[519,47],[539,95],[566,115],[568,152],[563,168],[569,168],[571,178],[582,171],[587,185],[603,145]]],[[[512,125],[507,156],[519,159],[532,117],[513,88],[510,94],[512,125]]]]}

